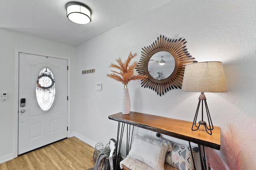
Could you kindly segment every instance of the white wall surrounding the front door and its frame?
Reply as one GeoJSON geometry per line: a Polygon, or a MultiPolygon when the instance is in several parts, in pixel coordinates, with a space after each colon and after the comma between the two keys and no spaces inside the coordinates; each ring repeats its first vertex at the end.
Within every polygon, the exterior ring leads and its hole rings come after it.
{"type": "MultiPolygon", "coordinates": [[[[14,114],[18,114],[18,106],[14,107],[14,103],[17,102],[14,101],[14,91],[16,90],[16,84],[14,84],[14,49],[70,58],[71,87],[74,87],[75,84],[73,71],[75,68],[75,47],[0,28],[0,93],[6,92],[8,95],[6,101],[0,100],[0,163],[14,158],[16,156],[14,153],[17,152],[14,149],[18,147],[14,146],[17,143],[14,127],[17,127],[15,123],[18,123],[14,122],[14,114]]],[[[74,93],[74,88],[71,88],[71,100],[74,98],[72,96],[74,93]]],[[[71,109],[74,108],[73,105],[71,102],[71,109]]],[[[73,120],[74,118],[71,117],[71,126],[74,125],[73,120]]],[[[74,128],[71,128],[71,132],[74,133],[74,128]]]]}

